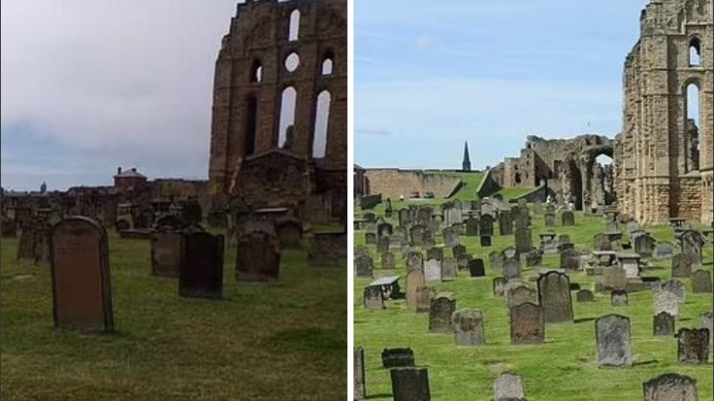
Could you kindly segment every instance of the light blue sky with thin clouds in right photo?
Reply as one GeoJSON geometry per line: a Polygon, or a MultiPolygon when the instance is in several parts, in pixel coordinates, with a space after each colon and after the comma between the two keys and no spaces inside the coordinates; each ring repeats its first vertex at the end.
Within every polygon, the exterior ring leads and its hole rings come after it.
{"type": "Polygon", "coordinates": [[[354,160],[474,168],[527,135],[614,137],[646,0],[359,0],[354,160]]]}

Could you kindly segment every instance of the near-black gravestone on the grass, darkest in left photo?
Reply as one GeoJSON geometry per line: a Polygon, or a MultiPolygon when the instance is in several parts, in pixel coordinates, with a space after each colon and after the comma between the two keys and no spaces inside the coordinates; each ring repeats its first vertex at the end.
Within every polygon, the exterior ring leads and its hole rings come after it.
{"type": "Polygon", "coordinates": [[[179,274],[179,295],[220,299],[223,296],[223,235],[187,232],[179,274]]]}

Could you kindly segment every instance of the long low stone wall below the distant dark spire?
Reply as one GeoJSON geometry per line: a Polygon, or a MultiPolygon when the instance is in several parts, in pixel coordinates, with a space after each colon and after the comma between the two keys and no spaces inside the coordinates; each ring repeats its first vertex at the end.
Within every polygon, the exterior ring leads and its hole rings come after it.
{"type": "Polygon", "coordinates": [[[411,192],[434,192],[436,198],[445,198],[461,184],[458,176],[398,168],[368,168],[364,176],[369,193],[381,193],[383,199],[399,199],[400,195],[408,198],[411,192]]]}

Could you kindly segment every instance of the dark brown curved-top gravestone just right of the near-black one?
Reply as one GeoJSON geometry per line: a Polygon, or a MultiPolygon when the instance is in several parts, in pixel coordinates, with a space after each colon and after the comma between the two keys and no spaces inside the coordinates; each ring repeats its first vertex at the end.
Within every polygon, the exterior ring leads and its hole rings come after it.
{"type": "MultiPolygon", "coordinates": [[[[371,258],[369,258],[371,269],[371,258]]],[[[252,231],[238,237],[236,279],[241,282],[277,282],[280,241],[274,233],[252,231]]],[[[371,273],[371,272],[370,272],[371,273]]]]}

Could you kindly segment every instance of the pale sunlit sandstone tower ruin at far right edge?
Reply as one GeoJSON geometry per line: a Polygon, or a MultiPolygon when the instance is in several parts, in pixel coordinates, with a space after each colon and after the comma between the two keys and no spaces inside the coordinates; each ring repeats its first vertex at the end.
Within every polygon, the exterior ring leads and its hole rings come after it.
{"type": "Polygon", "coordinates": [[[713,18],[712,0],[652,0],[642,12],[614,157],[619,209],[640,222],[714,215],[713,18]]]}

